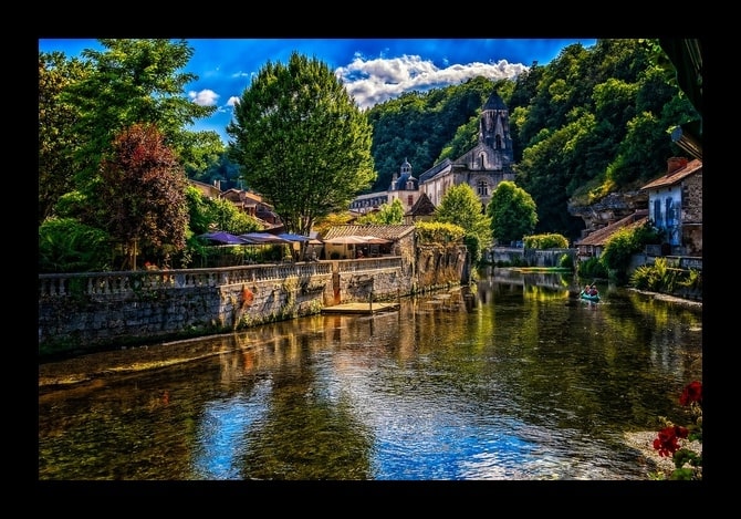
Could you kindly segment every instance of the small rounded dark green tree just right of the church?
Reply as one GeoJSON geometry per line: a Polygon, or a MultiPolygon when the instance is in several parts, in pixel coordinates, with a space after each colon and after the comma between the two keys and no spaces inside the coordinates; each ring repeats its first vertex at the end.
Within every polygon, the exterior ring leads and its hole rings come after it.
{"type": "Polygon", "coordinates": [[[533,198],[513,181],[499,183],[487,206],[492,237],[499,243],[519,241],[535,230],[538,210],[533,198]]]}

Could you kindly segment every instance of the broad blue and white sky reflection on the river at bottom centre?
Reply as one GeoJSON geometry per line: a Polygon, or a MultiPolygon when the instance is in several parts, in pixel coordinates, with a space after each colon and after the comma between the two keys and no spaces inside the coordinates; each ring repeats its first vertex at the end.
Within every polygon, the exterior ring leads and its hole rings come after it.
{"type": "Polygon", "coordinates": [[[389,394],[366,369],[337,359],[334,372],[315,366],[316,381],[326,396],[345,395],[372,432],[373,479],[526,479],[539,463],[538,445],[513,434],[522,424],[457,405],[439,387],[389,394]]]}

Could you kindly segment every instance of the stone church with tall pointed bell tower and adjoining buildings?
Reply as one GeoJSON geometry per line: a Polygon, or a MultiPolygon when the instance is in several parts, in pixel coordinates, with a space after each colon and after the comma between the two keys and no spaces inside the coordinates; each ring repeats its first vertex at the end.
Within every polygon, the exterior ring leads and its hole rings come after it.
{"type": "Polygon", "coordinates": [[[483,209],[499,183],[514,181],[513,162],[510,113],[494,92],[481,108],[479,142],[472,149],[455,160],[446,158],[419,175],[418,179],[413,176],[411,165],[405,158],[387,191],[357,197],[351,204],[351,210],[366,212],[398,198],[407,216],[410,216],[422,194],[438,207],[448,189],[463,183],[473,188],[483,209]]]}

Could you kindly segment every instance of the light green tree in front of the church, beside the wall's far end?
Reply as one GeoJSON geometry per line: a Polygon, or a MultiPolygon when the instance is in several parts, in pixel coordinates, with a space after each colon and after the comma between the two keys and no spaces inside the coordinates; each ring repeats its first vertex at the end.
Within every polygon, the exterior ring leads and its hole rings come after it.
{"type": "Polygon", "coordinates": [[[434,221],[455,224],[466,230],[463,241],[473,263],[481,259],[482,250],[493,243],[491,218],[484,214],[481,200],[468,184],[458,184],[448,189],[435,210],[434,221]]]}

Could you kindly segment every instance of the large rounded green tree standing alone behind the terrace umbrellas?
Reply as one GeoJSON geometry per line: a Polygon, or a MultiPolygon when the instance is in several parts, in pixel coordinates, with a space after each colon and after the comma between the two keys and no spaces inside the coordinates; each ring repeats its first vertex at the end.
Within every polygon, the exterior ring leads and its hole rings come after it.
{"type": "Polygon", "coordinates": [[[376,177],[366,115],[326,63],[296,51],[258,72],[227,133],[230,157],[290,232],[309,235],[376,177]]]}

